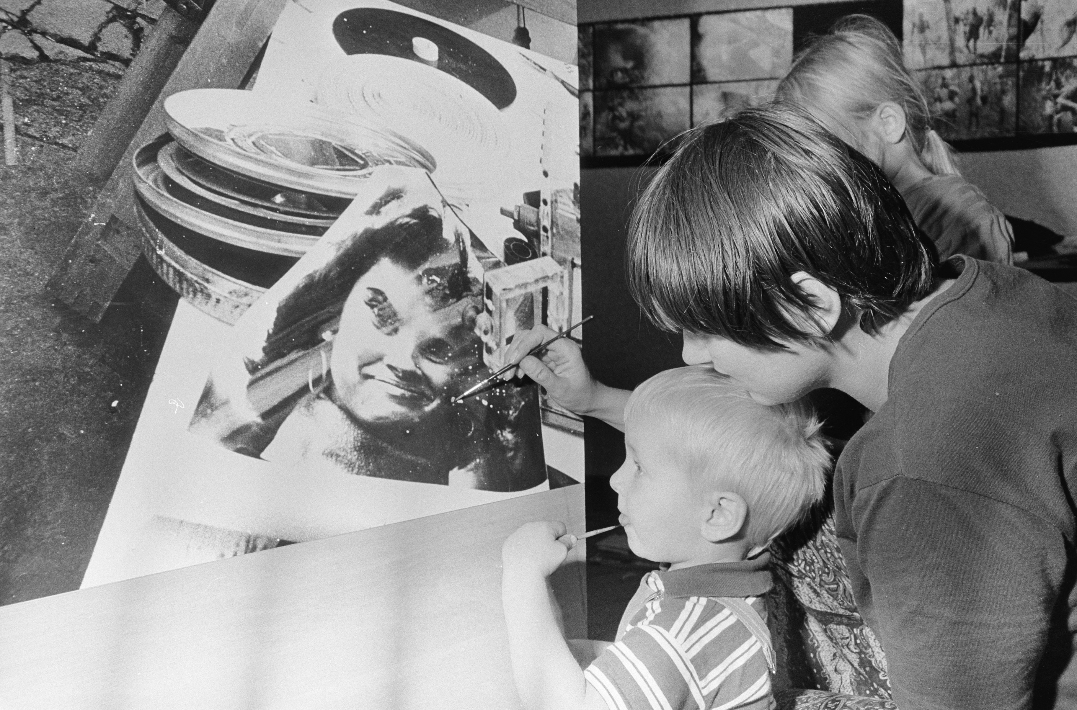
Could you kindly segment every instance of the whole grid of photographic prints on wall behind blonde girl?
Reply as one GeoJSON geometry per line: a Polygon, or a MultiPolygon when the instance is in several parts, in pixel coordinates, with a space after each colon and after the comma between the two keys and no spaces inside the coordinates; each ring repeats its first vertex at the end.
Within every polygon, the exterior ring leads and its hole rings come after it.
{"type": "Polygon", "coordinates": [[[585,167],[639,165],[667,141],[773,95],[827,24],[866,12],[903,41],[936,128],[960,150],[1075,142],[1077,2],[891,0],[579,26],[585,167]]]}

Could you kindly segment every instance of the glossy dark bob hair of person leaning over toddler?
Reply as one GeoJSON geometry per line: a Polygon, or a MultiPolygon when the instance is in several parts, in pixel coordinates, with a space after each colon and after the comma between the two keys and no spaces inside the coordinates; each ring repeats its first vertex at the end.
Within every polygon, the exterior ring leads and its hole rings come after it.
{"type": "Polygon", "coordinates": [[[877,332],[927,295],[935,247],[871,160],[803,111],[688,131],[629,224],[628,284],[659,327],[778,350],[812,339],[803,271],[877,332]]]}

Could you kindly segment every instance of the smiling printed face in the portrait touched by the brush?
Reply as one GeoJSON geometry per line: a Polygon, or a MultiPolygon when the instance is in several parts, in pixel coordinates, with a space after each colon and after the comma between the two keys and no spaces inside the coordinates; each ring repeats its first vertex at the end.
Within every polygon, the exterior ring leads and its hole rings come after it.
{"type": "Polygon", "coordinates": [[[436,292],[422,268],[388,258],[352,287],[330,369],[337,403],[361,422],[420,421],[449,398],[454,377],[480,364],[461,317],[470,299],[444,303],[436,292]]]}

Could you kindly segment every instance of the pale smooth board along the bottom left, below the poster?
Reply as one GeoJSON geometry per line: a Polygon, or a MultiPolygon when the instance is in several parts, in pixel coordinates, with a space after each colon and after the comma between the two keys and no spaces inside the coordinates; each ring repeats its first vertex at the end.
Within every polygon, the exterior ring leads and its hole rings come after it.
{"type": "MultiPolygon", "coordinates": [[[[583,486],[0,608],[5,708],[518,708],[501,543],[583,486]]],[[[583,637],[583,545],[555,578],[583,637]]]]}

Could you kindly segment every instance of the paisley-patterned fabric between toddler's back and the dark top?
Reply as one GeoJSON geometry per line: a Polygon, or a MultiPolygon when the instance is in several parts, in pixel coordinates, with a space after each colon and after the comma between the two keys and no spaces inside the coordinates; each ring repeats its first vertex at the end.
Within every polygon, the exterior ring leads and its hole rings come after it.
{"type": "Polygon", "coordinates": [[[782,710],[896,710],[882,645],[856,611],[830,511],[771,543],[767,604],[782,710]]]}

